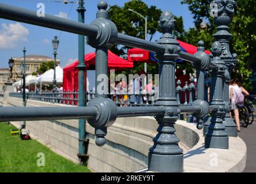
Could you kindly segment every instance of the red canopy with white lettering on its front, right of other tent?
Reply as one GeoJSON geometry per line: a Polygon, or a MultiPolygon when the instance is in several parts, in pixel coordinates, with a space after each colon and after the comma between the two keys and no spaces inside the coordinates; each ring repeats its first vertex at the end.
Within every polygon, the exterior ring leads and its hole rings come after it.
{"type": "MultiPolygon", "coordinates": [[[[183,41],[177,40],[180,44],[180,48],[182,51],[194,54],[197,52],[197,47],[194,45],[185,43],[183,41]]],[[[205,53],[209,54],[209,51],[205,51],[205,53]]],[[[157,59],[155,58],[155,53],[146,51],[144,49],[133,48],[128,51],[128,60],[130,62],[143,62],[143,63],[155,63],[157,59]]]]}

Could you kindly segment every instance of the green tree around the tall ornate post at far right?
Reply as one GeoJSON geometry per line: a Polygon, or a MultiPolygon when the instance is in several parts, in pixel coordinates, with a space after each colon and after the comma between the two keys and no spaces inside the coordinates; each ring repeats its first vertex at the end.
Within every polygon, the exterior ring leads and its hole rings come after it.
{"type": "MultiPolygon", "coordinates": [[[[230,33],[233,34],[231,40],[231,53],[238,54],[238,64],[232,72],[232,78],[239,78],[243,83],[243,87],[247,90],[255,90],[255,86],[250,81],[252,71],[256,69],[254,63],[256,53],[256,3],[255,0],[235,0],[238,4],[236,13],[229,26],[230,33]]],[[[195,28],[190,29],[185,37],[190,40],[189,43],[194,44],[198,39],[197,30],[202,20],[206,20],[212,29],[206,30],[203,37],[205,37],[206,49],[209,49],[210,36],[216,32],[213,24],[213,18],[210,17],[210,2],[212,0],[182,0],[182,3],[189,5],[189,10],[194,15],[195,28]]]]}

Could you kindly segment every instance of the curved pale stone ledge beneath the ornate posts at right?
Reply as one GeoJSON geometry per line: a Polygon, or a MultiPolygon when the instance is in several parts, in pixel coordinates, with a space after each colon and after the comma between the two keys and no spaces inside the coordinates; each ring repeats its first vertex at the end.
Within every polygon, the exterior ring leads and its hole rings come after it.
{"type": "MultiPolygon", "coordinates": [[[[229,137],[229,149],[204,148],[202,130],[195,124],[178,122],[197,132],[199,141],[184,153],[184,173],[242,173],[246,166],[247,147],[240,137],[229,137]]],[[[136,173],[151,173],[147,168],[136,173]]]]}

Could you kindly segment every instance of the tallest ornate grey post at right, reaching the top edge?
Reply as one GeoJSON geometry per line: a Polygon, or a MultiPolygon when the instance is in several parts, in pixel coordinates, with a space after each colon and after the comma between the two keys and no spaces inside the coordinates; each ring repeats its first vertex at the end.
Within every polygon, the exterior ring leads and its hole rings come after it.
{"type": "Polygon", "coordinates": [[[231,54],[229,51],[229,41],[232,38],[232,34],[228,32],[228,25],[231,22],[236,2],[234,0],[221,1],[215,0],[218,6],[221,6],[221,9],[217,10],[217,17],[214,18],[215,24],[217,25],[217,33],[213,34],[213,37],[216,41],[219,41],[222,44],[223,52],[221,53],[220,58],[224,60],[227,70],[225,71],[225,79],[223,83],[223,98],[226,105],[225,120],[223,125],[225,130],[228,133],[228,136],[236,137],[238,136],[238,131],[234,120],[230,117],[230,104],[229,104],[229,82],[230,82],[230,73],[231,68],[235,66],[238,62],[237,55],[231,54]]]}

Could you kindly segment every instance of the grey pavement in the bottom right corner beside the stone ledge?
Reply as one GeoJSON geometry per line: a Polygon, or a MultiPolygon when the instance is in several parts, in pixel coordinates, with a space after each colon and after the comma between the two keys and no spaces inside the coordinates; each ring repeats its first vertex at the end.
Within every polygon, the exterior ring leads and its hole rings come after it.
{"type": "MultiPolygon", "coordinates": [[[[254,116],[255,118],[255,116],[254,116]]],[[[248,125],[247,128],[241,127],[238,136],[243,139],[247,146],[247,160],[244,173],[256,173],[256,121],[248,125]]]]}

